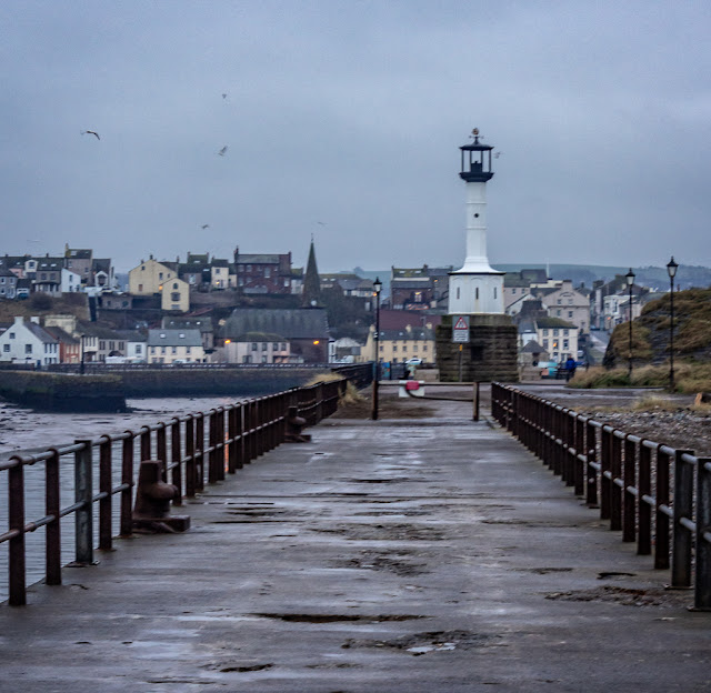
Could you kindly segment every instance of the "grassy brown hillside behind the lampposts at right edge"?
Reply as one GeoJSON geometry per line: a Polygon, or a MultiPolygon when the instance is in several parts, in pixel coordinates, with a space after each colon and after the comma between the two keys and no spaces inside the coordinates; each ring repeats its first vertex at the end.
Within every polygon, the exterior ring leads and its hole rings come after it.
{"type": "MultiPolygon", "coordinates": [[[[670,294],[651,301],[632,322],[634,365],[659,364],[669,359],[670,294]]],[[[614,329],[603,359],[605,368],[628,362],[629,323],[614,329]]],[[[674,359],[711,360],[711,289],[674,292],[674,359]]]]}

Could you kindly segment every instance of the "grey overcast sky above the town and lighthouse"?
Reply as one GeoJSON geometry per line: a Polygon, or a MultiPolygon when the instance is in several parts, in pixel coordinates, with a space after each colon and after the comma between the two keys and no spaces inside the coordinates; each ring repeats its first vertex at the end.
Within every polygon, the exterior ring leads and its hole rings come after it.
{"type": "Polygon", "coordinates": [[[0,251],[460,267],[478,127],[493,264],[711,265],[710,34],[707,0],[4,0],[0,251]]]}

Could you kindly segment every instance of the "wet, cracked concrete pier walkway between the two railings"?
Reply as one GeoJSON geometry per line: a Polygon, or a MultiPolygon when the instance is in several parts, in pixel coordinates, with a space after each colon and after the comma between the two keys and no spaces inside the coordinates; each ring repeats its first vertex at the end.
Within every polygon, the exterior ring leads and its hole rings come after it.
{"type": "Polygon", "coordinates": [[[711,614],[471,405],[327,420],[0,606],[0,691],[711,690],[711,614]]]}

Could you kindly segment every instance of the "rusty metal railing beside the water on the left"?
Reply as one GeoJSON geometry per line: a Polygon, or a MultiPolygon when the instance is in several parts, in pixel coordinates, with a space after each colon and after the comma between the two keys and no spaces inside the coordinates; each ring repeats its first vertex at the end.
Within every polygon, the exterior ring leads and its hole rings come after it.
{"type": "MultiPolygon", "coordinates": [[[[94,520],[98,520],[98,550],[111,551],[114,496],[118,496],[119,536],[132,532],[133,488],[138,465],[134,460],[163,462],[163,481],[178,490],[174,505],[193,498],[209,484],[226,479],[244,464],[272,450],[284,440],[287,414],[297,406],[308,425],[314,425],[338,409],[347,380],[294,388],[277,394],[250,399],[209,412],[173,418],[169,422],[141,426],[138,431],[104,433],[96,440],[77,440],[64,448],[48,448],[31,455],[16,454],[0,462],[8,474],[8,529],[0,543],[8,542],[10,605],[27,603],[26,535],[46,529],[44,581],[61,584],[61,520],[74,516],[74,564],[93,563],[94,520]],[[120,451],[120,452],[119,452],[120,451]],[[120,472],[114,469],[120,455],[120,472]],[[73,456],[74,499],[60,503],[62,460],[73,456]],[[44,463],[44,515],[26,519],[26,468],[44,463]],[[93,474],[98,470],[98,484],[93,474]],[[207,476],[207,479],[206,479],[207,476]]],[[[66,466],[66,465],[64,465],[66,466]]]]}

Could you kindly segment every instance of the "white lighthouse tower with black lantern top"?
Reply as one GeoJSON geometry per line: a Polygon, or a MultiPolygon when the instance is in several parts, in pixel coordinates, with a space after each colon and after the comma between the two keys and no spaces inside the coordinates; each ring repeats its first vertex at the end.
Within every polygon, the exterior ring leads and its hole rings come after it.
{"type": "Polygon", "coordinates": [[[460,270],[449,275],[449,313],[502,314],[503,274],[487,258],[487,181],[493,177],[491,150],[482,144],[479,130],[462,152],[460,178],[467,181],[467,258],[460,270]]]}

